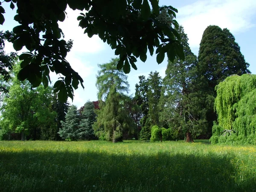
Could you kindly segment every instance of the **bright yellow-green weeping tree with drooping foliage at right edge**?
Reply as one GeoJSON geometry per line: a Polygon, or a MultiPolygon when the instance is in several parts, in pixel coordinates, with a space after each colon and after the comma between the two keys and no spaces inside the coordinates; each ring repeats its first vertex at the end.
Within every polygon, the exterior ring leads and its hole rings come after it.
{"type": "Polygon", "coordinates": [[[216,91],[211,142],[256,144],[256,75],[229,76],[216,91]]]}

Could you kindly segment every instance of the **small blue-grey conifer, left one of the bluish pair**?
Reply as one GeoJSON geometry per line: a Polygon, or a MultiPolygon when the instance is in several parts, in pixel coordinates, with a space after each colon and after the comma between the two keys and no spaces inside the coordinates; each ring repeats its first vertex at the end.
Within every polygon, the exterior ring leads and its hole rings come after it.
{"type": "Polygon", "coordinates": [[[61,121],[62,128],[58,132],[62,139],[74,141],[79,138],[79,120],[76,105],[71,105],[67,110],[65,122],[61,121]]]}

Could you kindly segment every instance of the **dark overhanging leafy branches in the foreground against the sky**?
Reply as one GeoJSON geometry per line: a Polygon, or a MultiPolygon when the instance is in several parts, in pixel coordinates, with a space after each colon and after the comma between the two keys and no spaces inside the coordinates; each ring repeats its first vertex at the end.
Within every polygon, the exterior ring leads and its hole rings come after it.
{"type": "MultiPolygon", "coordinates": [[[[20,24],[13,29],[13,47],[16,51],[24,46],[29,50],[20,55],[23,61],[18,78],[28,79],[33,87],[41,82],[47,87],[49,70],[62,74],[65,78],[54,85],[61,101],[66,101],[68,96],[73,99],[73,88],[77,89],[79,83],[83,87],[81,76],[65,59],[72,41],[66,42],[58,27],[58,22],[65,20],[67,6],[81,11],[77,19],[84,33],[89,37],[99,35],[115,49],[119,55],[117,67],[125,73],[130,72],[130,66],[137,69],[137,58],[146,61],[148,49],[153,55],[157,48],[157,63],[163,61],[166,52],[172,61],[176,56],[184,57],[182,46],[175,39],[180,39],[175,30],[177,9],[159,7],[158,0],[150,0],[152,11],[148,0],[5,0],[3,3],[8,2],[12,9],[17,7],[14,19],[20,24]]],[[[4,23],[4,13],[0,6],[0,24],[4,23]]]]}

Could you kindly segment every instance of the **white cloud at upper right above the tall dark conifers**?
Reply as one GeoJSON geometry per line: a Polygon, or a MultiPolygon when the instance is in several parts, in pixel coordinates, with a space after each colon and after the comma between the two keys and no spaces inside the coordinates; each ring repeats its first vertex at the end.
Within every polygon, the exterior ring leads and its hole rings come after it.
{"type": "Polygon", "coordinates": [[[230,29],[234,34],[250,29],[254,26],[251,18],[255,9],[255,0],[199,0],[178,8],[177,20],[195,48],[209,25],[230,29]]]}

